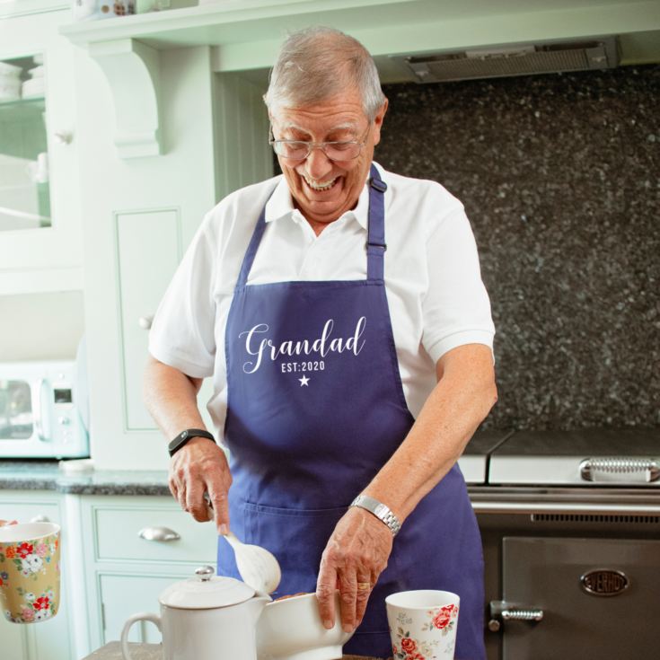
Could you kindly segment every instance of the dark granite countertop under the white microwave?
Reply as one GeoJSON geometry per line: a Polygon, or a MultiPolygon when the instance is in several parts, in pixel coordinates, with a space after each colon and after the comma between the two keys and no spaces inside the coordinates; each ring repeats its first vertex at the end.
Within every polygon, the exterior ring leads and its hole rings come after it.
{"type": "Polygon", "coordinates": [[[95,470],[66,473],[57,461],[0,461],[0,489],[55,490],[75,495],[170,495],[167,472],[95,470]]]}

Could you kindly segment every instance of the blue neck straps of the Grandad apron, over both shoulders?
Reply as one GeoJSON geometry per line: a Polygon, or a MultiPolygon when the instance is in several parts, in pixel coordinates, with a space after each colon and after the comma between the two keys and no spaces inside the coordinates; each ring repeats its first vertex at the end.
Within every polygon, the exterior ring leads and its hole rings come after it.
{"type": "MultiPolygon", "coordinates": [[[[374,167],[374,163],[372,163],[369,173],[371,176],[367,181],[369,185],[369,220],[366,239],[366,278],[369,280],[382,280],[384,275],[383,255],[385,250],[387,250],[387,245],[385,245],[384,202],[384,192],[387,189],[387,184],[381,179],[378,170],[374,167]]],[[[268,195],[268,199],[271,195],[272,192],[268,195]]],[[[250,245],[248,245],[248,249],[245,251],[236,286],[242,287],[247,284],[252,263],[257,255],[261,237],[265,231],[266,205],[264,204],[259,220],[257,220],[257,226],[255,226],[252,233],[250,245]]]]}

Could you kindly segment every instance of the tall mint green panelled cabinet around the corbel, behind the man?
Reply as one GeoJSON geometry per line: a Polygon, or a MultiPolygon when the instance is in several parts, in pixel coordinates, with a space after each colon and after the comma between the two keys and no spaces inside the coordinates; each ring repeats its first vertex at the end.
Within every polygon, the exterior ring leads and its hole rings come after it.
{"type": "MultiPolygon", "coordinates": [[[[100,469],[167,468],[166,439],[142,401],[151,320],[207,211],[231,190],[272,174],[268,117],[257,85],[216,75],[207,47],[152,55],[159,71],[161,154],[124,157],[126,135],[118,151],[120,121],[112,112],[106,56],[85,55],[77,69],[85,81],[76,114],[85,163],[91,452],[100,469]]],[[[209,398],[205,383],[198,398],[203,414],[209,398]]],[[[205,421],[211,427],[208,416],[205,421]]]]}

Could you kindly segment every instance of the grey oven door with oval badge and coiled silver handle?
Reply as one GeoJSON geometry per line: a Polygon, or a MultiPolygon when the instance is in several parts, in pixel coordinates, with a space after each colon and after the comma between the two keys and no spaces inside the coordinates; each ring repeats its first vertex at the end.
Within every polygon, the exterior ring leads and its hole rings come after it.
{"type": "Polygon", "coordinates": [[[503,660],[656,657],[660,541],[506,537],[503,660]]]}

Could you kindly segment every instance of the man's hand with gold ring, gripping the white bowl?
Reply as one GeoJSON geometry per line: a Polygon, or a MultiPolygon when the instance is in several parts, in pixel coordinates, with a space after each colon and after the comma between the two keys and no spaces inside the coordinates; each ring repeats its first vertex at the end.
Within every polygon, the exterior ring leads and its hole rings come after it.
{"type": "Polygon", "coordinates": [[[353,631],[392,552],[392,532],[374,515],[351,507],[335,527],[321,557],[316,583],[321,621],[332,628],[339,588],[342,628],[353,631]]]}

